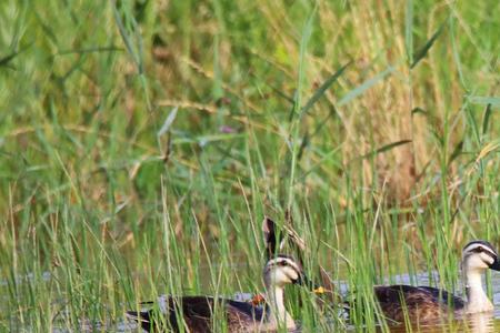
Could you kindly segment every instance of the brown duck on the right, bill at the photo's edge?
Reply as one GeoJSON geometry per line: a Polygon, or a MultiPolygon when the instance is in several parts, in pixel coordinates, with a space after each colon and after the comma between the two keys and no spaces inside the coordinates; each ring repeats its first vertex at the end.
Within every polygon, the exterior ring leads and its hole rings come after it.
{"type": "Polygon", "coordinates": [[[456,315],[493,311],[482,289],[486,270],[500,271],[497,251],[487,241],[472,241],[462,250],[462,279],[467,300],[431,286],[374,286],[383,314],[393,321],[430,321],[453,312],[456,315]]]}

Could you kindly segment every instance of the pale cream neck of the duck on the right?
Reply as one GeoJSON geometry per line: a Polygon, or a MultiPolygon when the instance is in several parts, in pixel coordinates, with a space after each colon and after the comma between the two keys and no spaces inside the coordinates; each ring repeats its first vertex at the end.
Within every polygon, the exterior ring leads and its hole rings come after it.
{"type": "Polygon", "coordinates": [[[482,270],[464,270],[466,312],[477,313],[492,311],[493,304],[482,289],[482,270]]]}

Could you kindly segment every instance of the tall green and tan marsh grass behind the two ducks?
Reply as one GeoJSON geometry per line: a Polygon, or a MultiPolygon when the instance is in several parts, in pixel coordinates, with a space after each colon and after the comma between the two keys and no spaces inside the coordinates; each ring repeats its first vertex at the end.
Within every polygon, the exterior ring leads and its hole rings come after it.
{"type": "MultiPolygon", "coordinates": [[[[264,214],[371,285],[500,245],[496,1],[7,1],[0,329],[256,292],[264,214]],[[176,110],[176,111],[174,111],[176,110]]],[[[303,306],[306,329],[347,323],[303,306]]],[[[386,327],[387,329],[387,327],[386,327]]]]}

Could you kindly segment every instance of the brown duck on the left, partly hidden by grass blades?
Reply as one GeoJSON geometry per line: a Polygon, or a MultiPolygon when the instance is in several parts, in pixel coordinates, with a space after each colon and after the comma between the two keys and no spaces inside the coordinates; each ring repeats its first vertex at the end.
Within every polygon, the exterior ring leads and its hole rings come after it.
{"type": "Polygon", "coordinates": [[[206,295],[171,295],[164,297],[163,304],[159,304],[161,306],[144,311],[127,311],[126,315],[138,322],[147,332],[212,332],[213,309],[222,306],[229,332],[296,330],[296,322],[284,306],[284,286],[298,284],[316,287],[316,285],[306,276],[302,265],[284,254],[268,260],[262,275],[266,287],[266,303],[262,306],[206,295]]]}

